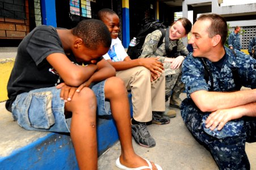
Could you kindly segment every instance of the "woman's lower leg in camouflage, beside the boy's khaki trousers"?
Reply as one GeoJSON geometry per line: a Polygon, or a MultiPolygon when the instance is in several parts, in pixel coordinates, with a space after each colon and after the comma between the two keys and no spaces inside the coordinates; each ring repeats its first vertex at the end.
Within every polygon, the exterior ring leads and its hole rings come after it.
{"type": "Polygon", "coordinates": [[[179,108],[181,109],[181,102],[182,100],[179,98],[179,95],[181,95],[181,92],[184,91],[184,84],[181,81],[181,76],[182,74],[178,75],[178,79],[174,84],[173,87],[173,93],[171,94],[170,97],[170,107],[174,107],[174,108],[179,108]]]}

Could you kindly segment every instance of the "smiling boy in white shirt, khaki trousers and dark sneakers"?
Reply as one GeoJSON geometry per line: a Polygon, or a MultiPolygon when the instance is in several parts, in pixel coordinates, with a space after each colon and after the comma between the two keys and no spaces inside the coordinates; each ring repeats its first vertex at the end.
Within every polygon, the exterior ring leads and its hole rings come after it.
{"type": "Polygon", "coordinates": [[[116,12],[104,8],[98,12],[98,18],[108,27],[112,37],[111,47],[103,57],[116,69],[127,90],[131,90],[133,117],[132,135],[135,141],[145,147],[156,146],[155,140],[146,128],[146,122],[168,124],[170,118],[165,112],[165,75],[163,66],[157,58],[131,59],[125,52],[118,33],[119,17],[116,12]]]}

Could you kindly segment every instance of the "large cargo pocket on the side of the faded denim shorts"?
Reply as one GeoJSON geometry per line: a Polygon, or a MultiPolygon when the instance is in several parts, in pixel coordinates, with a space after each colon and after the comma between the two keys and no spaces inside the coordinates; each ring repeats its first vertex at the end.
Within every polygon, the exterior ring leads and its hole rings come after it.
{"type": "Polygon", "coordinates": [[[30,94],[28,120],[33,128],[49,129],[55,123],[52,113],[52,92],[32,92],[30,94]]]}

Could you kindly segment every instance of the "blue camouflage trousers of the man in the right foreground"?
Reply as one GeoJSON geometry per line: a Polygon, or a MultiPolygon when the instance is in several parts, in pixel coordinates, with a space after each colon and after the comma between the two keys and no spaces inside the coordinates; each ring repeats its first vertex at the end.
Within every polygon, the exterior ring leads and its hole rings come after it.
{"type": "Polygon", "coordinates": [[[201,112],[191,99],[182,101],[181,115],[184,123],[192,135],[211,152],[219,169],[250,169],[245,142],[256,141],[256,118],[239,119],[228,128],[225,128],[226,124],[224,129],[230,130],[224,131],[223,137],[221,133],[216,137],[205,131],[203,118],[208,114],[201,112]],[[241,128],[237,127],[239,122],[242,122],[241,128]]]}

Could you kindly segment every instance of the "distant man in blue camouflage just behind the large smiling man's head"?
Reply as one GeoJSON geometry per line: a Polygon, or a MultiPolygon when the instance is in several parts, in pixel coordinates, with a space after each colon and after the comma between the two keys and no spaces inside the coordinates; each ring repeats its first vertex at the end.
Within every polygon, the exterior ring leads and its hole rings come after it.
{"type": "Polygon", "coordinates": [[[242,46],[240,44],[240,27],[236,26],[234,31],[229,34],[228,46],[230,49],[241,50],[242,46]]]}

